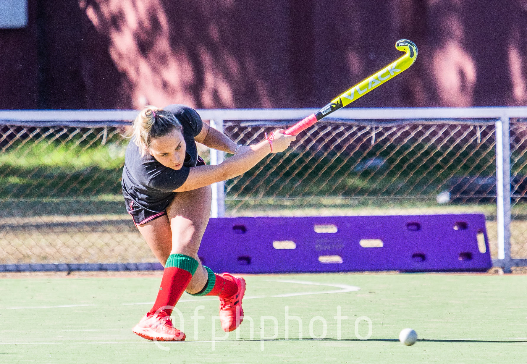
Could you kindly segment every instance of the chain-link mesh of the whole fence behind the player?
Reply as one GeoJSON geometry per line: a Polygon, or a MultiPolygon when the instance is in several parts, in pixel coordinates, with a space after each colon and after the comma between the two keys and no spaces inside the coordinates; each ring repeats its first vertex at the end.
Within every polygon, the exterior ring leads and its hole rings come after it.
{"type": "MultiPolygon", "coordinates": [[[[0,264],[155,262],[121,195],[128,123],[37,124],[0,125],[0,264]]],[[[285,124],[225,121],[224,131],[251,144],[285,124]]],[[[494,125],[324,120],[227,181],[225,215],[484,213],[496,258],[494,125]]],[[[513,258],[527,257],[526,134],[511,121],[513,258]]]]}

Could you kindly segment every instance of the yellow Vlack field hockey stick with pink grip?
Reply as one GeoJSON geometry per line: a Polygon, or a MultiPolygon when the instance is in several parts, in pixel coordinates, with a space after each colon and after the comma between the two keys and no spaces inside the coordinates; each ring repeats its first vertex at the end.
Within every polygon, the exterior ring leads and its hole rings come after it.
{"type": "Polygon", "coordinates": [[[399,73],[403,72],[414,64],[417,58],[417,46],[414,42],[406,39],[399,40],[395,43],[395,47],[402,52],[405,52],[403,56],[398,58],[395,62],[387,65],[382,70],[374,73],[373,75],[360,81],[358,84],[350,88],[345,93],[331,100],[329,104],[324,106],[322,109],[314,114],[309,115],[306,119],[299,121],[295,125],[291,126],[285,131],[287,135],[297,135],[302,130],[307,129],[309,126],[315,124],[323,117],[331,114],[332,112],[344,107],[353,101],[357,100],[360,96],[367,94],[372,91],[375,87],[382,85],[383,83],[391,80],[399,73]]]}

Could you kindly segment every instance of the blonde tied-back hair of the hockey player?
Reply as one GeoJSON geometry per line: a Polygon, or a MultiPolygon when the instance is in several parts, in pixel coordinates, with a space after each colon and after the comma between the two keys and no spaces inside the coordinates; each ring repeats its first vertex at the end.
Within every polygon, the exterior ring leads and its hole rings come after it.
{"type": "Polygon", "coordinates": [[[144,156],[148,152],[152,139],[167,135],[174,129],[183,133],[181,123],[175,119],[174,114],[159,107],[147,105],[135,117],[130,136],[135,138],[135,145],[139,146],[141,156],[144,156]]]}

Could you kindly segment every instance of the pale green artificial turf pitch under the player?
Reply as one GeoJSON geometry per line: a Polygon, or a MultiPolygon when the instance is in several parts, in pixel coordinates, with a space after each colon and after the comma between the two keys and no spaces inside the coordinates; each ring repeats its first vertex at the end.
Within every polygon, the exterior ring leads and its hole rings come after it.
{"type": "MultiPolygon", "coordinates": [[[[135,336],[131,328],[150,309],[160,278],[2,279],[0,362],[523,363],[527,358],[527,275],[332,273],[245,278],[243,308],[254,322],[253,340],[246,318],[239,340],[233,331],[225,341],[213,341],[216,298],[184,294],[177,308],[187,341],[158,345],[135,336]],[[320,293],[324,291],[333,293],[320,293]],[[191,317],[199,306],[203,307],[198,315],[204,319],[197,320],[195,331],[191,317]],[[339,306],[341,315],[347,316],[341,321],[341,340],[334,318],[339,306]],[[302,321],[302,340],[295,319],[289,321],[285,340],[286,307],[289,316],[302,321]],[[274,336],[276,318],[276,339],[260,340],[262,317],[265,337],[274,336]],[[368,335],[367,320],[372,322],[368,340],[357,338],[359,318],[362,338],[368,335]],[[324,339],[312,339],[323,336],[323,320],[324,339]],[[406,327],[419,337],[412,347],[397,339],[406,327]]],[[[178,313],[172,317],[181,328],[178,313]]],[[[225,336],[219,321],[214,336],[225,336]]]]}

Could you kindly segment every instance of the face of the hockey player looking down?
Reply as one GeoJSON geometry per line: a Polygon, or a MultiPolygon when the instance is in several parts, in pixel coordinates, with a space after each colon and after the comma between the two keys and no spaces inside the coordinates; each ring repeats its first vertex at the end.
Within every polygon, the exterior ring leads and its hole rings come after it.
{"type": "Polygon", "coordinates": [[[187,144],[185,144],[183,135],[175,129],[167,135],[150,141],[150,154],[159,163],[174,170],[179,170],[183,166],[186,151],[187,144]]]}

